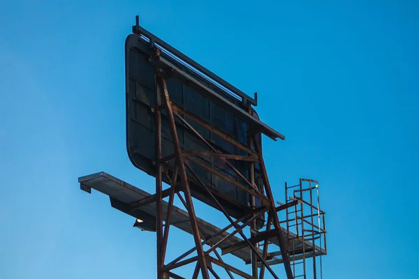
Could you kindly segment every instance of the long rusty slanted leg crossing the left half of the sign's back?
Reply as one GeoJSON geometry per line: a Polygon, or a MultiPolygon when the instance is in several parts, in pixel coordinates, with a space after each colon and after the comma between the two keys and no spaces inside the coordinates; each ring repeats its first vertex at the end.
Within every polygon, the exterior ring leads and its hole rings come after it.
{"type": "Polygon", "coordinates": [[[203,279],[210,279],[210,274],[208,273],[208,268],[207,268],[207,262],[205,260],[204,249],[200,241],[198,221],[196,220],[196,213],[195,213],[195,209],[193,208],[191,189],[189,188],[189,182],[186,176],[184,158],[183,158],[182,151],[180,149],[179,138],[177,137],[176,123],[175,123],[175,118],[173,117],[173,111],[172,111],[172,105],[171,105],[170,97],[168,93],[168,87],[166,84],[166,80],[164,80],[164,78],[161,77],[160,72],[157,74],[158,74],[158,78],[159,78],[159,81],[161,82],[161,86],[163,89],[164,106],[166,108],[166,113],[169,120],[170,134],[172,135],[173,147],[176,153],[177,167],[178,167],[179,176],[180,176],[180,179],[182,181],[182,186],[183,186],[182,190],[184,191],[186,205],[188,206],[187,209],[189,213],[189,218],[191,220],[191,229],[193,233],[193,239],[195,240],[196,252],[198,253],[198,263],[200,266],[203,279]]]}

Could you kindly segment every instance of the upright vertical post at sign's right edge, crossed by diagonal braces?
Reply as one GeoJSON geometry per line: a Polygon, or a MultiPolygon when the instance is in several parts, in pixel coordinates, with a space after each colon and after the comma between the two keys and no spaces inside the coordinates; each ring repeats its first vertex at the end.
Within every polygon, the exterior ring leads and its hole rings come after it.
{"type": "MultiPolygon", "coordinates": [[[[251,105],[247,105],[247,112],[251,115],[251,105]]],[[[251,131],[250,131],[250,126],[247,126],[247,146],[249,146],[249,148],[252,148],[253,142],[251,140],[251,131]]],[[[250,154],[249,154],[250,155],[250,154]]],[[[251,163],[249,166],[249,181],[251,183],[251,185],[256,186],[255,185],[255,163],[251,163]]],[[[252,209],[256,208],[256,198],[253,195],[249,195],[250,197],[250,204],[252,209]]],[[[253,214],[254,216],[254,214],[253,214]]],[[[253,234],[252,229],[256,230],[256,219],[253,220],[253,222],[250,225],[251,227],[251,237],[256,236],[255,234],[253,234]]],[[[259,248],[259,243],[255,243],[255,248],[258,249],[259,248]]],[[[258,255],[256,255],[256,252],[251,252],[251,276],[253,276],[254,279],[258,279],[258,255]]]]}

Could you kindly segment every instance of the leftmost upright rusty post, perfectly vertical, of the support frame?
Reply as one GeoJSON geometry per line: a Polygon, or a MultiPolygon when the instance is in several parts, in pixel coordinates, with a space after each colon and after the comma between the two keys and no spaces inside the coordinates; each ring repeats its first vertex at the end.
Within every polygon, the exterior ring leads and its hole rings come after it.
{"type": "MultiPolygon", "coordinates": [[[[156,55],[160,51],[156,48],[156,55]]],[[[161,87],[158,80],[159,68],[154,69],[154,108],[156,114],[156,137],[155,137],[155,153],[156,153],[156,239],[157,239],[157,278],[163,279],[163,202],[161,197],[162,191],[162,166],[161,166],[161,87]]]]}

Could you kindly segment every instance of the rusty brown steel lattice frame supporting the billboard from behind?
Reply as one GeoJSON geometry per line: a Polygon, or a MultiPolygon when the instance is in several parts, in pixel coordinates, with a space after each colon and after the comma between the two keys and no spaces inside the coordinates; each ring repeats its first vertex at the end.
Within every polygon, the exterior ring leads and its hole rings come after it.
{"type": "MultiPolygon", "coordinates": [[[[160,55],[160,50],[156,48],[156,56],[160,55]]],[[[177,110],[177,107],[172,105],[172,102],[170,100],[168,88],[166,85],[166,80],[164,78],[165,73],[162,73],[162,70],[158,67],[155,69],[155,100],[156,100],[156,107],[154,107],[154,113],[156,114],[156,121],[155,121],[155,130],[156,130],[156,195],[155,195],[155,202],[156,202],[156,234],[157,234],[157,269],[158,269],[158,278],[180,278],[179,276],[176,276],[175,273],[173,273],[173,269],[184,266],[185,264],[191,264],[192,262],[196,262],[196,269],[193,273],[192,278],[198,278],[198,274],[200,273],[202,278],[210,278],[210,273],[215,278],[220,278],[219,275],[217,275],[212,269],[212,264],[216,264],[218,266],[223,267],[228,272],[229,276],[231,276],[231,273],[236,273],[239,276],[242,276],[243,278],[263,278],[265,274],[265,269],[267,269],[267,272],[269,272],[274,278],[278,278],[276,273],[272,270],[271,266],[267,264],[267,241],[268,239],[272,238],[272,236],[275,236],[277,238],[277,241],[279,243],[279,248],[281,251],[281,259],[284,263],[284,267],[286,270],[287,278],[291,279],[293,278],[293,273],[291,269],[291,262],[289,258],[288,253],[288,247],[287,247],[287,239],[284,238],[284,234],[282,232],[282,228],[279,223],[279,218],[277,215],[277,211],[287,209],[289,206],[295,206],[297,204],[296,201],[289,202],[287,204],[284,204],[282,206],[275,206],[274,204],[274,197],[272,195],[272,190],[270,188],[270,182],[267,178],[267,172],[265,168],[265,163],[263,160],[263,156],[260,150],[260,142],[256,135],[256,133],[249,133],[249,144],[251,144],[249,147],[251,149],[254,149],[254,154],[250,156],[231,156],[230,154],[223,154],[221,151],[217,150],[210,142],[207,142],[205,138],[196,131],[193,126],[191,125],[190,121],[191,119],[188,119],[185,117],[184,114],[182,114],[182,111],[177,110]],[[173,140],[173,154],[175,156],[175,171],[172,173],[169,173],[165,171],[165,163],[168,158],[162,158],[161,157],[161,114],[162,110],[166,110],[166,116],[168,117],[169,124],[170,124],[170,133],[173,140]],[[182,121],[184,126],[189,128],[193,133],[195,133],[207,146],[210,147],[212,152],[206,153],[205,156],[214,156],[216,158],[221,158],[221,160],[226,160],[226,158],[229,158],[230,160],[247,160],[253,164],[253,162],[257,161],[260,164],[260,169],[262,172],[262,179],[263,179],[263,185],[265,186],[265,196],[263,196],[262,193],[256,188],[255,182],[253,181],[253,177],[251,176],[250,186],[249,188],[243,188],[242,190],[246,190],[249,195],[252,197],[259,197],[263,201],[263,206],[260,206],[259,208],[255,208],[253,210],[253,213],[251,215],[247,216],[247,220],[242,224],[239,225],[237,220],[233,220],[233,218],[228,215],[226,212],[226,209],[219,203],[216,196],[212,193],[212,191],[209,189],[209,186],[205,185],[203,181],[200,180],[199,176],[193,171],[193,169],[190,167],[191,162],[196,162],[197,160],[194,158],[196,155],[203,155],[200,154],[198,151],[188,151],[188,150],[182,150],[179,144],[179,139],[177,135],[177,128],[175,123],[175,118],[182,121]],[[224,216],[228,219],[230,224],[235,228],[235,230],[228,234],[226,238],[234,236],[235,234],[239,234],[243,241],[240,244],[235,245],[235,247],[229,247],[228,249],[224,249],[223,252],[231,252],[235,249],[242,248],[243,246],[247,246],[251,249],[252,252],[252,273],[253,274],[247,274],[244,273],[244,271],[240,271],[239,269],[236,269],[233,266],[230,266],[226,264],[226,262],[223,261],[221,255],[219,255],[219,252],[217,252],[216,248],[219,248],[220,244],[223,243],[223,241],[218,241],[217,243],[213,243],[212,239],[214,236],[205,236],[205,241],[201,241],[203,239],[203,236],[201,236],[200,227],[198,225],[198,221],[196,219],[196,213],[193,206],[193,199],[191,196],[191,190],[189,188],[189,179],[186,174],[186,172],[191,172],[192,176],[198,181],[200,186],[207,192],[207,195],[210,195],[212,197],[214,203],[217,206],[217,209],[221,211],[224,216]],[[168,205],[168,211],[166,216],[163,216],[163,189],[162,189],[162,176],[165,175],[169,181],[171,181],[171,188],[169,193],[169,205],[168,205]],[[180,179],[181,183],[177,184],[176,181],[180,179]],[[184,197],[180,194],[180,192],[184,193],[184,197]],[[173,200],[175,195],[179,197],[179,199],[182,201],[184,206],[186,207],[187,211],[189,212],[189,218],[191,222],[191,230],[193,234],[193,239],[195,240],[195,248],[192,248],[188,252],[184,253],[183,255],[177,257],[174,261],[165,264],[166,259],[166,250],[167,250],[167,243],[168,243],[168,236],[170,231],[170,217],[172,214],[172,207],[173,207],[173,200]],[[254,220],[262,214],[267,213],[268,220],[267,220],[267,226],[266,230],[264,232],[258,232],[257,234],[253,234],[250,238],[248,238],[243,230],[249,229],[249,228],[255,228],[254,220]],[[163,225],[163,220],[164,225],[163,225]],[[271,229],[271,226],[273,225],[273,229],[271,229]],[[265,241],[264,243],[264,249],[263,252],[258,252],[258,246],[256,246],[256,243],[260,241],[265,241]],[[207,246],[210,246],[210,248],[205,250],[205,244],[207,246]],[[190,254],[191,251],[196,250],[197,256],[191,257],[190,259],[184,259],[187,255],[190,254]],[[228,251],[227,251],[228,250],[228,251]],[[214,252],[216,257],[212,257],[210,255],[211,252],[214,252]],[[262,264],[260,268],[260,275],[257,276],[258,273],[258,262],[262,264]]],[[[250,110],[250,107],[249,107],[250,110]]],[[[211,129],[210,127],[208,127],[211,129]]],[[[172,156],[170,156],[170,159],[172,156]]],[[[233,167],[230,165],[230,167],[233,167]]],[[[209,172],[216,172],[214,169],[207,169],[209,172]]],[[[222,179],[228,179],[228,177],[220,175],[222,179]]],[[[239,186],[239,184],[235,184],[235,186],[239,186]]],[[[166,192],[168,193],[168,192],[166,192]]],[[[138,203],[140,203],[139,201],[138,203]]],[[[138,203],[136,206],[138,206],[138,203]]]]}

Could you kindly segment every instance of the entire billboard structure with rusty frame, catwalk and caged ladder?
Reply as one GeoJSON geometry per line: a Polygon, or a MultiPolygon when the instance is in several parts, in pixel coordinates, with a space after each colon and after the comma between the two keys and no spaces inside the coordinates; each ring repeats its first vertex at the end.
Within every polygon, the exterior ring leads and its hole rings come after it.
{"type": "Polygon", "coordinates": [[[182,278],[174,269],[191,263],[189,278],[221,278],[214,264],[229,278],[279,278],[274,264],[284,266],[288,279],[307,278],[311,267],[321,278],[326,231],[318,183],[286,184],[286,203],[275,204],[261,139],[285,137],[258,118],[257,94],[247,96],[175,50],[140,27],[138,17],[125,52],[128,156],[156,178],[156,193],[105,172],[79,181],[82,190],[109,195],[113,207],[136,218],[135,227],[156,232],[157,278],[182,278]],[[163,189],[163,182],[170,187],[163,189]],[[186,211],[173,205],[176,196],[186,211]],[[221,211],[230,225],[197,218],[193,198],[221,211]],[[279,220],[280,211],[286,220],[279,220]],[[170,226],[191,234],[195,246],[166,263],[170,226]],[[268,251],[270,245],[279,249],[268,251]],[[226,254],[251,264],[251,274],[227,264],[226,254]]]}

